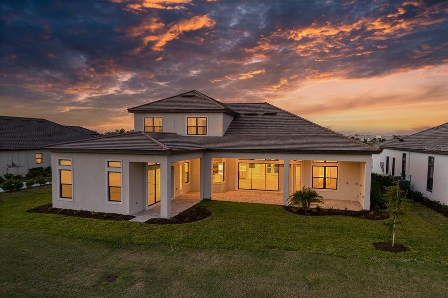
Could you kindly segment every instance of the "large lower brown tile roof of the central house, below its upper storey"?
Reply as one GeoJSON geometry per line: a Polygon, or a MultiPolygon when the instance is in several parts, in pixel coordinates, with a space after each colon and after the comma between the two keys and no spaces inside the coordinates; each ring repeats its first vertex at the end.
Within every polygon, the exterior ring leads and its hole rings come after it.
{"type": "MultiPolygon", "coordinates": [[[[236,116],[224,136],[197,137],[181,136],[175,133],[142,133],[149,138],[142,142],[160,145],[158,151],[176,152],[185,150],[225,150],[225,151],[275,151],[275,152],[313,152],[313,153],[378,153],[362,142],[336,133],[269,103],[232,103],[226,104],[236,111],[236,116]]],[[[117,148],[121,136],[90,141],[53,145],[49,149],[97,149],[117,148]],[[113,138],[116,138],[113,140],[113,138]],[[112,141],[113,140],[113,141],[112,141]],[[93,146],[93,147],[92,147],[93,146]]],[[[137,139],[137,137],[135,137],[137,139]]],[[[148,145],[149,146],[149,145],[148,145]]],[[[154,145],[151,145],[154,146],[154,145]]],[[[135,144],[123,142],[120,149],[137,150],[135,144]]],[[[138,150],[143,149],[138,147],[138,150]]]]}

